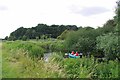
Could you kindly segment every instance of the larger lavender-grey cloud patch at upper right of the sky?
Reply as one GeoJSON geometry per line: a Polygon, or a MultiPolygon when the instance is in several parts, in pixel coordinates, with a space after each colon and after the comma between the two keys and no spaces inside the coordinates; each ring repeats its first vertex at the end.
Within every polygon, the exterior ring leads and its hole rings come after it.
{"type": "Polygon", "coordinates": [[[71,9],[73,13],[76,14],[81,14],[83,16],[92,16],[92,15],[97,15],[97,14],[102,14],[105,12],[108,12],[109,9],[104,8],[104,7],[84,7],[82,9],[79,8],[73,8],[71,9]]]}

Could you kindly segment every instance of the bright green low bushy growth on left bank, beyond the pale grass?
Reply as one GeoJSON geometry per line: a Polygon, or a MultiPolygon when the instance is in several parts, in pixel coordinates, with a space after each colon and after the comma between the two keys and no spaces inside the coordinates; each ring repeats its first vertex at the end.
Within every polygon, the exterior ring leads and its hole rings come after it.
{"type": "Polygon", "coordinates": [[[43,57],[45,50],[37,45],[36,43],[24,42],[24,41],[15,41],[15,42],[7,42],[7,48],[10,50],[23,49],[24,51],[28,51],[28,55],[30,57],[43,57]]]}

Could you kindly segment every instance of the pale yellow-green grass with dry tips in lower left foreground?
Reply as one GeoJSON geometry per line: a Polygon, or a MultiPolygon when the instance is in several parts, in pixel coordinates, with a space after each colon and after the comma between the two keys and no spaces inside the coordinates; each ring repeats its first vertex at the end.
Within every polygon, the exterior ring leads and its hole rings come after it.
{"type": "Polygon", "coordinates": [[[10,51],[6,46],[3,48],[3,78],[60,78],[65,77],[63,69],[52,61],[45,63],[44,60],[27,55],[23,49],[10,51]],[[9,53],[8,53],[9,52],[9,53]]]}

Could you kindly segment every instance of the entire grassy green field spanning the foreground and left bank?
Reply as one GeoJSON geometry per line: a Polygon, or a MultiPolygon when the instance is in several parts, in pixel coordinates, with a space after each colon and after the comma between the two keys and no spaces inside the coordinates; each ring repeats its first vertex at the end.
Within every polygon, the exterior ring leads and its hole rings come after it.
{"type": "MultiPolygon", "coordinates": [[[[2,78],[117,78],[118,61],[64,58],[62,40],[2,42],[2,78]],[[48,62],[43,55],[51,52],[48,62]]],[[[1,45],[1,43],[0,43],[1,45]]],[[[0,49],[1,50],[1,49],[0,49]]]]}

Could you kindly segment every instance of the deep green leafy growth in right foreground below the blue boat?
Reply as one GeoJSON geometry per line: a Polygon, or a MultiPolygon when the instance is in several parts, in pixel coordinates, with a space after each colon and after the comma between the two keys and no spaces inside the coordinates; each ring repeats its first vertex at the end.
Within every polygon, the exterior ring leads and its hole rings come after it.
{"type": "Polygon", "coordinates": [[[65,59],[64,68],[68,78],[118,78],[118,63],[94,63],[93,58],[65,59]]]}

